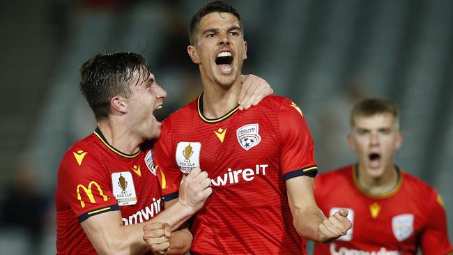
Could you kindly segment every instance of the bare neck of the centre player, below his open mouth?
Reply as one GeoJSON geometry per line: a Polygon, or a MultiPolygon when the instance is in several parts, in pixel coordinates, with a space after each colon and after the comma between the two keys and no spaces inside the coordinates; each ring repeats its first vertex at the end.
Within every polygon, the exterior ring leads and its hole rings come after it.
{"type": "Polygon", "coordinates": [[[238,97],[242,83],[240,77],[228,88],[217,83],[204,84],[203,114],[206,118],[220,118],[238,106],[238,97]]]}

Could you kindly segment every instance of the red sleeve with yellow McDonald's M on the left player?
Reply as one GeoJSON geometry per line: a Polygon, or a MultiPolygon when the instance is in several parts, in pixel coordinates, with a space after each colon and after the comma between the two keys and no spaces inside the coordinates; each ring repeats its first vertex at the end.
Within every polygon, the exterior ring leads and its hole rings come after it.
{"type": "Polygon", "coordinates": [[[59,167],[59,196],[83,222],[102,212],[119,210],[112,194],[112,180],[96,159],[95,151],[71,148],[59,167]]]}

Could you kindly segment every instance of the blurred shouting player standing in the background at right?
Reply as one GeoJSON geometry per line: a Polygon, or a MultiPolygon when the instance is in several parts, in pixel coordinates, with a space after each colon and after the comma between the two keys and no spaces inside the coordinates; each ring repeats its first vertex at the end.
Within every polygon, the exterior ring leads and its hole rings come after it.
{"type": "Polygon", "coordinates": [[[354,226],[317,243],[315,254],[452,254],[440,195],[394,163],[401,141],[393,102],[367,98],[353,107],[348,143],[358,163],[320,174],[314,196],[325,215],[346,208],[354,226]]]}

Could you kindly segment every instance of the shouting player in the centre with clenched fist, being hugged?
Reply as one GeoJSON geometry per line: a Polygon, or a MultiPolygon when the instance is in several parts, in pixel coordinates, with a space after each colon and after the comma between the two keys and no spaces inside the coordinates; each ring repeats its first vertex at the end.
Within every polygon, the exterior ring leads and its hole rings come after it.
{"type": "Polygon", "coordinates": [[[247,42],[237,11],[207,3],[192,18],[190,42],[204,93],[162,123],[154,148],[166,206],[183,174],[201,167],[212,178],[213,194],[190,227],[191,254],[305,254],[303,238],[345,234],[347,211],[326,219],[314,202],[314,145],[298,106],[268,96],[238,111],[247,42]]]}

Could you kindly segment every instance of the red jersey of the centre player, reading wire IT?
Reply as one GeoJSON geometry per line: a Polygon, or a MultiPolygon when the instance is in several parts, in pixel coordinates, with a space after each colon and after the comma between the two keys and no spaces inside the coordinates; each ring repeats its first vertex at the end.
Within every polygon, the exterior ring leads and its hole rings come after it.
{"type": "Polygon", "coordinates": [[[171,114],[154,146],[164,199],[177,196],[193,167],[212,179],[213,194],[191,226],[191,254],[305,254],[285,184],[317,172],[302,111],[276,95],[217,119],[204,117],[202,105],[201,95],[171,114]]]}

